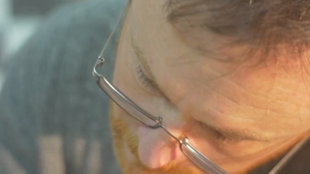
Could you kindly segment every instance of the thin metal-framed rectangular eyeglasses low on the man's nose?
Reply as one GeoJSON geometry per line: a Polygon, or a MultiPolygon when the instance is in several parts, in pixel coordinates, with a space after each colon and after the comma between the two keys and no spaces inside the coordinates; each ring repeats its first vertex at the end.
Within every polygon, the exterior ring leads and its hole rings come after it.
{"type": "MultiPolygon", "coordinates": [[[[97,72],[97,68],[104,65],[105,58],[104,53],[107,49],[107,45],[110,42],[111,38],[113,37],[117,26],[119,25],[121,19],[124,17],[126,9],[121,13],[120,17],[118,18],[112,33],[110,34],[108,40],[106,41],[104,48],[102,48],[98,60],[94,66],[92,75],[96,78],[97,84],[99,87],[124,111],[129,113],[133,118],[141,122],[143,125],[151,128],[151,129],[159,129],[162,128],[166,133],[168,133],[173,139],[175,139],[179,144],[179,149],[183,152],[183,154],[191,160],[197,167],[203,170],[206,173],[215,173],[215,174],[223,174],[227,173],[222,168],[220,168],[215,163],[211,162],[208,158],[203,156],[199,153],[195,148],[193,148],[189,144],[189,140],[186,136],[182,135],[180,138],[174,136],[163,124],[163,118],[160,115],[152,115],[151,113],[144,110],[126,95],[124,95],[121,91],[119,91],[116,86],[114,86],[111,82],[109,82],[106,77],[102,74],[97,72]]],[[[302,139],[298,142],[295,147],[270,171],[270,173],[277,173],[280,169],[289,161],[290,158],[293,157],[294,154],[298,152],[300,147],[303,144],[310,140],[310,136],[302,139]]]]}

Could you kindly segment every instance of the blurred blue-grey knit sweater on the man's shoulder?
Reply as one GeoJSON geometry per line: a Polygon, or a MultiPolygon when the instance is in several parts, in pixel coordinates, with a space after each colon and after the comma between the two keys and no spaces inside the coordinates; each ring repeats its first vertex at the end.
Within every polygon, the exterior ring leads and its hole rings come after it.
{"type": "Polygon", "coordinates": [[[125,3],[62,7],[14,56],[0,94],[0,173],[120,173],[109,100],[91,72],[125,3]]]}

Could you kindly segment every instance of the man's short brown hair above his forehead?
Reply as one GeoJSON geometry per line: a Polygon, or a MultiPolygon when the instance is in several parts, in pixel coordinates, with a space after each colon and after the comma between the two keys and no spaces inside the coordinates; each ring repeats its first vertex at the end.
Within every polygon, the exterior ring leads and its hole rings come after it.
{"type": "Polygon", "coordinates": [[[310,0],[169,0],[166,8],[182,35],[209,30],[265,53],[301,53],[310,41],[310,0]]]}

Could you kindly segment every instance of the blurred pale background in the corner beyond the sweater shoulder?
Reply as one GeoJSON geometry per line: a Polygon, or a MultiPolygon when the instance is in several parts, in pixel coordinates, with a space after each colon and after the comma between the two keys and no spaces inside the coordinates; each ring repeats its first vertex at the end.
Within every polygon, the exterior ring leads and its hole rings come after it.
{"type": "Polygon", "coordinates": [[[0,0],[0,91],[8,60],[53,9],[82,0],[0,0]]]}

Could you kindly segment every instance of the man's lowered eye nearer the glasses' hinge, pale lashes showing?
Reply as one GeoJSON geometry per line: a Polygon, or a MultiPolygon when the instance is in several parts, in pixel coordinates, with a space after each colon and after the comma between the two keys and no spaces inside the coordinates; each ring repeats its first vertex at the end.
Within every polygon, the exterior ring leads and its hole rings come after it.
{"type": "Polygon", "coordinates": [[[160,90],[156,87],[154,82],[152,82],[149,78],[146,77],[146,75],[143,73],[142,67],[139,64],[136,67],[136,79],[140,86],[147,92],[150,92],[152,94],[156,94],[159,96],[162,96],[163,94],[160,92],[160,90]]]}

